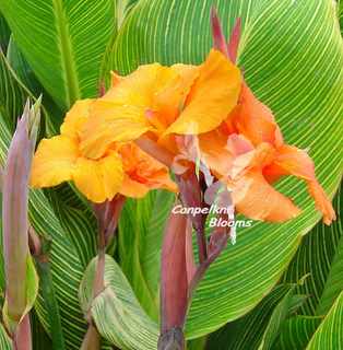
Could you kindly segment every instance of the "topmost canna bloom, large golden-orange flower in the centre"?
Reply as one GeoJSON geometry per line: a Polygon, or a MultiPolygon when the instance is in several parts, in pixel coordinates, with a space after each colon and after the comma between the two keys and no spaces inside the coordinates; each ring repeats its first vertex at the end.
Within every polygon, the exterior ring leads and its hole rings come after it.
{"type": "Polygon", "coordinates": [[[201,66],[153,63],[114,75],[113,88],[91,106],[81,150],[97,159],[113,142],[143,133],[163,143],[213,130],[237,104],[240,85],[238,68],[217,50],[201,66]]]}

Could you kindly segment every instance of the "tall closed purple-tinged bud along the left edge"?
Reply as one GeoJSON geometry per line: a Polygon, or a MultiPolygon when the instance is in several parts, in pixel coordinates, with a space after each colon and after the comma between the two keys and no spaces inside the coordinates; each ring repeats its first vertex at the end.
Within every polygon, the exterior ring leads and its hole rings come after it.
{"type": "Polygon", "coordinates": [[[2,178],[2,225],[5,270],[3,318],[10,334],[32,305],[27,300],[27,273],[32,270],[28,248],[28,182],[39,124],[39,105],[26,103],[12,138],[2,178]]]}

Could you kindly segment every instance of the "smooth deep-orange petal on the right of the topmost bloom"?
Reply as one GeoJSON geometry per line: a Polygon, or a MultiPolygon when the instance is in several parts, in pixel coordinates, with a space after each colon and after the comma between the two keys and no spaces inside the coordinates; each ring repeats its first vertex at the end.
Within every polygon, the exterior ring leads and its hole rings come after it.
{"type": "Polygon", "coordinates": [[[240,86],[239,69],[220,51],[211,50],[200,67],[186,108],[166,135],[198,135],[215,129],[235,107],[240,86]]]}

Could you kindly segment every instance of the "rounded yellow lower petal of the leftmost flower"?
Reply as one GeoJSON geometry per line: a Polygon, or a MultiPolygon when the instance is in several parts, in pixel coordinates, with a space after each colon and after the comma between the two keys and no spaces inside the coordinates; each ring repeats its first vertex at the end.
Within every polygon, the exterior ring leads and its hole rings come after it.
{"type": "Polygon", "coordinates": [[[121,159],[115,152],[97,161],[79,158],[72,177],[79,190],[91,201],[111,200],[123,178],[121,159]]]}

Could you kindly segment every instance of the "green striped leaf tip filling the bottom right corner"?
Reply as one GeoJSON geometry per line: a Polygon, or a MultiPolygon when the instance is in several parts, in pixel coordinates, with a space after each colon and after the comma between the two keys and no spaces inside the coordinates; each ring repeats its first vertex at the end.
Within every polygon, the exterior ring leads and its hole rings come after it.
{"type": "Polygon", "coordinates": [[[316,330],[306,350],[336,350],[343,348],[343,292],[316,330]]]}

